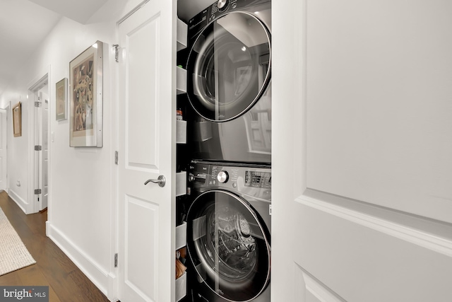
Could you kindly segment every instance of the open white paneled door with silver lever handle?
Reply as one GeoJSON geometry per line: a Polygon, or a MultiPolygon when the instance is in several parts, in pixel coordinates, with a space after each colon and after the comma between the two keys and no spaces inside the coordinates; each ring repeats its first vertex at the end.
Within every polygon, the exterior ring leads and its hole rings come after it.
{"type": "Polygon", "coordinates": [[[124,302],[174,301],[175,17],[175,1],[151,0],[118,25],[118,297],[124,302]]]}

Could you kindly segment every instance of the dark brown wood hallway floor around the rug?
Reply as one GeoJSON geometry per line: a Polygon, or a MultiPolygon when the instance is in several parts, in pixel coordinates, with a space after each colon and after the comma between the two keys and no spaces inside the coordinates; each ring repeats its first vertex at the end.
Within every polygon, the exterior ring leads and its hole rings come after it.
{"type": "Polygon", "coordinates": [[[49,286],[50,302],[109,301],[45,236],[47,211],[25,215],[6,192],[0,193],[0,207],[36,260],[35,265],[0,276],[0,286],[49,286]]]}

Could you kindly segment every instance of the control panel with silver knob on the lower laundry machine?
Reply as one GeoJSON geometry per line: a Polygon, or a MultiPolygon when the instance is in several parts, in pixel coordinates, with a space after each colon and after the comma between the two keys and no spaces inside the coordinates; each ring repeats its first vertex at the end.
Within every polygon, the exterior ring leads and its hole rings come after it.
{"type": "Polygon", "coordinates": [[[225,165],[194,161],[189,184],[196,190],[222,188],[271,200],[271,168],[261,165],[225,165]]]}

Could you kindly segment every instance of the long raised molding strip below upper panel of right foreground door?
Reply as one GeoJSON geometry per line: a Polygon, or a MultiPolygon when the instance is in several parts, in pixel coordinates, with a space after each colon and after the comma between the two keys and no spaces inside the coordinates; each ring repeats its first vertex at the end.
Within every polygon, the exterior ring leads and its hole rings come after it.
{"type": "Polygon", "coordinates": [[[304,204],[307,207],[318,209],[319,211],[338,216],[342,219],[352,221],[361,226],[366,226],[389,236],[405,240],[409,243],[414,243],[422,248],[427,248],[448,257],[452,257],[452,241],[446,238],[440,238],[439,236],[434,236],[408,226],[403,226],[399,223],[393,223],[375,216],[363,214],[359,211],[339,207],[335,204],[323,202],[319,199],[307,197],[305,195],[297,197],[295,201],[304,204]]]}

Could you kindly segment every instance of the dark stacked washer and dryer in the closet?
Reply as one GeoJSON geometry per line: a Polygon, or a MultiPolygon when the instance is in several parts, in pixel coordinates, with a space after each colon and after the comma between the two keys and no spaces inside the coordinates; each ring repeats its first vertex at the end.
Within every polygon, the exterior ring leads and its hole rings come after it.
{"type": "Polygon", "coordinates": [[[269,0],[220,0],[189,21],[187,298],[270,301],[269,0]]]}

